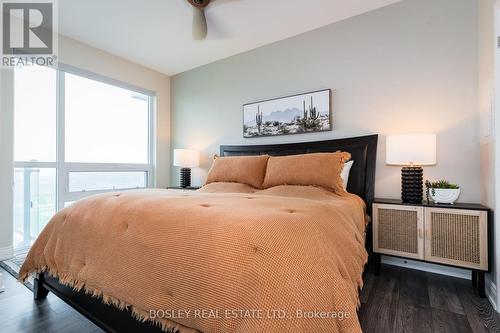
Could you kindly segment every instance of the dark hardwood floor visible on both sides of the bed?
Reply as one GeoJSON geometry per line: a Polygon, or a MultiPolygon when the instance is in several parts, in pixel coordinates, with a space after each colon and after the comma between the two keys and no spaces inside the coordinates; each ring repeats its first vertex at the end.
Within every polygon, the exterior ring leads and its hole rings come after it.
{"type": "MultiPolygon", "coordinates": [[[[50,293],[33,301],[29,289],[0,271],[6,287],[0,293],[0,332],[102,332],[50,293]]],[[[470,281],[388,265],[376,277],[368,269],[364,281],[364,332],[500,332],[500,315],[474,294],[470,281]]]]}

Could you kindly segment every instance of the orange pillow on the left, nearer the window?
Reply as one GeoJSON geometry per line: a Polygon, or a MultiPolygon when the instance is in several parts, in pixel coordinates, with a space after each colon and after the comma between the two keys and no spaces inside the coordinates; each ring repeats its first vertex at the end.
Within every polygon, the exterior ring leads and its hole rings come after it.
{"type": "Polygon", "coordinates": [[[268,159],[268,155],[216,157],[205,185],[226,182],[262,188],[268,159]]]}

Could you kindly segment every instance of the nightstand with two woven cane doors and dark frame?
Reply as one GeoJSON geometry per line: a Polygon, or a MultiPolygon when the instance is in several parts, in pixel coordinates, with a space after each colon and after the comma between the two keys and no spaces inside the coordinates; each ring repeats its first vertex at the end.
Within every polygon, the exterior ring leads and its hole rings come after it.
{"type": "Polygon", "coordinates": [[[472,284],[485,297],[490,271],[491,210],[479,204],[421,204],[375,199],[375,274],[381,254],[472,270],[472,284]]]}

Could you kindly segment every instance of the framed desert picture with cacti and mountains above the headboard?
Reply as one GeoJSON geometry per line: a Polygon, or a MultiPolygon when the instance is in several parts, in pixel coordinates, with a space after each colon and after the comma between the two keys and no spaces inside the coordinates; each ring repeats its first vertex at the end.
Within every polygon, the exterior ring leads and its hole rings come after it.
{"type": "Polygon", "coordinates": [[[328,89],[245,104],[243,137],[329,131],[330,95],[328,89]]]}

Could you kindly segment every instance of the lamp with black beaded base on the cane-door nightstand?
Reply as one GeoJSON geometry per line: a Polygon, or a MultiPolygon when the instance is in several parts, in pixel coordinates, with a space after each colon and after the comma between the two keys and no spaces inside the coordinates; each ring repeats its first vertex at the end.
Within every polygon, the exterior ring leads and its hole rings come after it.
{"type": "Polygon", "coordinates": [[[422,203],[422,166],[436,164],[436,135],[418,133],[388,136],[386,164],[403,166],[401,200],[405,203],[422,203]]]}

